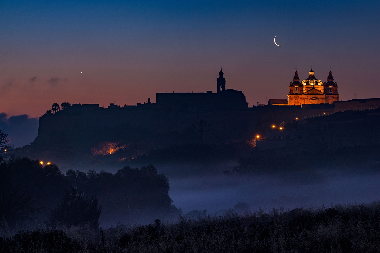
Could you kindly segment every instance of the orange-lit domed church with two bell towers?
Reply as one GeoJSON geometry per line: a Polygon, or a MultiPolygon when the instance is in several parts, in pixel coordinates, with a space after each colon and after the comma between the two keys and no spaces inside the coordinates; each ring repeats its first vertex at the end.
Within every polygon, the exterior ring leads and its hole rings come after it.
{"type": "Polygon", "coordinates": [[[288,105],[302,104],[322,104],[339,101],[338,86],[334,83],[334,77],[331,74],[327,77],[327,83],[323,83],[314,76],[314,71],[309,71],[309,77],[302,82],[299,81],[298,72],[290,82],[288,105]]]}

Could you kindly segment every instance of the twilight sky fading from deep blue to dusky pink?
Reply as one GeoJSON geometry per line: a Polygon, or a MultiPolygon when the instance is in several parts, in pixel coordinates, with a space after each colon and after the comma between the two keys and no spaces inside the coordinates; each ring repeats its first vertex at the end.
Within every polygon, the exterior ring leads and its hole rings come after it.
{"type": "Polygon", "coordinates": [[[4,1],[0,112],[215,92],[220,66],[249,106],[287,98],[296,66],[322,81],[331,66],[341,100],[380,97],[379,9],[377,0],[4,1]]]}

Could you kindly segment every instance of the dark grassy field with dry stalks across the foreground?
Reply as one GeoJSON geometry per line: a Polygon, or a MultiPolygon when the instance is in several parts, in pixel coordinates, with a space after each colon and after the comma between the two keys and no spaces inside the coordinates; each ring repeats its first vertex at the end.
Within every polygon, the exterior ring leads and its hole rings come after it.
{"type": "MultiPolygon", "coordinates": [[[[4,233],[4,232],[3,232],[4,233]]],[[[3,252],[378,252],[380,203],[274,209],[146,226],[19,231],[0,237],[3,252]],[[86,233],[84,233],[86,231],[86,233]]]]}

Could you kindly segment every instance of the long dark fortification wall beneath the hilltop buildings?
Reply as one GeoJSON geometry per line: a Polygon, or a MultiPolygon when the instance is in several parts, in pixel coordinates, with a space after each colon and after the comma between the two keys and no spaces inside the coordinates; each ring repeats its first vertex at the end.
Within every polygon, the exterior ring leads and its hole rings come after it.
{"type": "MultiPolygon", "coordinates": [[[[366,106],[378,102],[367,100],[366,106]]],[[[339,110],[360,109],[359,101],[341,103],[339,110]],[[351,106],[352,105],[352,106],[351,106]]],[[[192,128],[195,121],[206,120],[212,130],[203,134],[207,143],[228,143],[254,138],[258,129],[290,120],[329,115],[338,108],[334,104],[301,106],[258,106],[242,111],[169,112],[154,106],[136,108],[100,108],[97,105],[75,105],[55,114],[40,117],[34,144],[46,150],[54,147],[64,133],[70,145],[90,150],[104,141],[139,143],[146,149],[173,144],[198,142],[199,132],[192,128]]],[[[261,131],[261,130],[260,130],[261,131]]],[[[263,133],[262,133],[263,134],[263,133]]],[[[133,145],[135,145],[133,144],[133,145]]]]}

